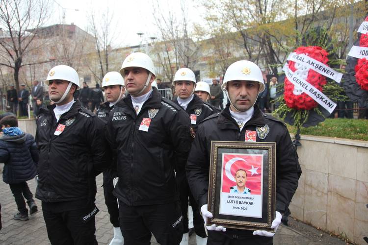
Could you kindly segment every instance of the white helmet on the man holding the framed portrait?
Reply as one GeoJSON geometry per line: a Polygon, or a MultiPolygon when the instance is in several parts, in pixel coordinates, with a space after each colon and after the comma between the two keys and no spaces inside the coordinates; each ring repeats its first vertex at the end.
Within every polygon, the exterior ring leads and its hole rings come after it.
{"type": "Polygon", "coordinates": [[[239,60],[228,67],[224,75],[222,90],[226,91],[226,83],[234,80],[259,82],[261,87],[258,93],[263,92],[265,88],[261,69],[249,60],[239,60]]]}

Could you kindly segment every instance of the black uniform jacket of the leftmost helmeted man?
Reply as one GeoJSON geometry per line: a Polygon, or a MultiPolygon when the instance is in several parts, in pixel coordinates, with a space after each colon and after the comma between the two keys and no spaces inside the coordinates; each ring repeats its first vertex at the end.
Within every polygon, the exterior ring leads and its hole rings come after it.
{"type": "Polygon", "coordinates": [[[106,123],[82,107],[79,101],[74,102],[56,123],[54,107],[41,108],[37,120],[36,143],[40,160],[36,197],[45,202],[94,200],[95,177],[110,162],[105,140],[106,123]],[[59,125],[65,128],[57,136],[54,132],[59,125]]]}

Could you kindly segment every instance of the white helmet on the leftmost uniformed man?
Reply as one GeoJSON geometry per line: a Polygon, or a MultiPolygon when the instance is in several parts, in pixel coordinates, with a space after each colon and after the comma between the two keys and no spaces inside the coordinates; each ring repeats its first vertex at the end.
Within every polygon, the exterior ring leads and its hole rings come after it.
{"type": "Polygon", "coordinates": [[[69,81],[77,85],[77,89],[80,89],[78,73],[70,66],[59,65],[53,67],[47,75],[45,83],[49,85],[50,80],[69,81]]]}

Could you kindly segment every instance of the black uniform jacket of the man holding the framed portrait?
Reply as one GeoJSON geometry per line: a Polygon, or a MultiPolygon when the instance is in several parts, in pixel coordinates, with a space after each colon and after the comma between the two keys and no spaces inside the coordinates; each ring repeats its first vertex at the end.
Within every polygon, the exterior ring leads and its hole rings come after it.
{"type": "Polygon", "coordinates": [[[257,135],[257,142],[276,143],[276,210],[287,210],[298,187],[301,174],[298,156],[293,147],[289,131],[284,123],[270,117],[255,106],[252,118],[239,130],[231,117],[229,105],[221,112],[208,117],[199,124],[186,165],[190,190],[199,206],[207,203],[211,141],[245,141],[245,131],[256,131],[256,126],[269,126],[265,139],[257,135]]]}

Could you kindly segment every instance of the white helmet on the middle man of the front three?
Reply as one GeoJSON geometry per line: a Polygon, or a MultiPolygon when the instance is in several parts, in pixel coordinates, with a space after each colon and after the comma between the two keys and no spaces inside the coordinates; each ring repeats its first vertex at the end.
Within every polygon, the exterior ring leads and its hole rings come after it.
{"type": "MultiPolygon", "coordinates": [[[[123,61],[120,74],[124,76],[124,69],[128,67],[141,67],[155,75],[155,66],[152,59],[145,53],[135,52],[128,55],[123,61]]],[[[156,75],[155,75],[156,76],[156,75]]]]}

